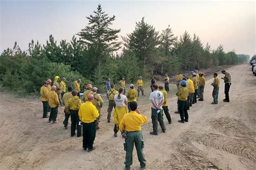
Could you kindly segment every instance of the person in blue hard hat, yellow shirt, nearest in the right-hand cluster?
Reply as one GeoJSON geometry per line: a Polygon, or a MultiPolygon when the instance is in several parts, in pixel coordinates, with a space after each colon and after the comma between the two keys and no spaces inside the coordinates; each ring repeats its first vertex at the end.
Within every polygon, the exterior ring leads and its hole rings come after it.
{"type": "Polygon", "coordinates": [[[176,96],[178,96],[178,108],[179,108],[179,114],[180,114],[180,120],[178,121],[180,123],[185,123],[185,121],[188,122],[188,113],[187,113],[188,89],[186,87],[187,81],[182,80],[180,84],[181,84],[181,88],[176,93],[176,96]]]}

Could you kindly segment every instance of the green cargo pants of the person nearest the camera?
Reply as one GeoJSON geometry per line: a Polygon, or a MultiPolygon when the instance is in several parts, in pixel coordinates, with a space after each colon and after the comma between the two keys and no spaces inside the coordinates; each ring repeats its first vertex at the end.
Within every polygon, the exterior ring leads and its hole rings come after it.
{"type": "Polygon", "coordinates": [[[136,132],[127,132],[127,138],[125,139],[124,150],[126,151],[125,155],[125,168],[130,169],[132,165],[132,152],[133,146],[135,144],[138,159],[140,162],[140,167],[146,167],[146,159],[143,153],[144,141],[142,136],[142,131],[136,132]]]}

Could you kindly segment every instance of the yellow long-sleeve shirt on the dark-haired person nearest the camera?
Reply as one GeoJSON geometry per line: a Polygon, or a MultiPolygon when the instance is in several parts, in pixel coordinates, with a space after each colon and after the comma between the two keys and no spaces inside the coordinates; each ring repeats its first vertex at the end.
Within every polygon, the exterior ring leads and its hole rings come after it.
{"type": "Polygon", "coordinates": [[[138,114],[135,111],[131,111],[124,115],[123,119],[120,121],[119,129],[121,132],[124,131],[124,128],[127,132],[140,131],[142,124],[147,123],[147,117],[142,114],[138,114]]]}

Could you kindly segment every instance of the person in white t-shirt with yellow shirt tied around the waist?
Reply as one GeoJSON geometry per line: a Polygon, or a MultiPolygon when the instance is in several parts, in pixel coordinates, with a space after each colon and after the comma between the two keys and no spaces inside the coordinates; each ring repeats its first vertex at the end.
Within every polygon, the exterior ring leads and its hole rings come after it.
{"type": "Polygon", "coordinates": [[[116,107],[114,108],[114,137],[117,137],[117,132],[119,131],[120,121],[123,119],[124,114],[127,112],[127,97],[123,94],[124,89],[120,87],[118,94],[114,95],[114,102],[116,107]]]}

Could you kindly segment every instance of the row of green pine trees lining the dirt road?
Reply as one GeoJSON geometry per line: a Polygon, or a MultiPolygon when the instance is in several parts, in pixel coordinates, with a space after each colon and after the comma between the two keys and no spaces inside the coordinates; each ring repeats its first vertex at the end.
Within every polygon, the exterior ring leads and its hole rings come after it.
{"type": "Polygon", "coordinates": [[[204,46],[196,34],[191,36],[187,31],[178,38],[170,25],[158,32],[144,17],[119,42],[121,30],[111,28],[116,16],[109,16],[101,5],[86,18],[89,23],[70,42],[61,40],[58,44],[50,35],[44,45],[31,40],[26,51],[16,42],[13,49],[4,50],[0,56],[3,86],[35,92],[44,80],[58,75],[67,78],[68,85],[80,78],[82,87],[93,83],[103,90],[107,78],[117,82],[125,77],[132,83],[138,76],[173,75],[248,60],[247,55],[235,51],[226,53],[223,45],[217,49],[211,49],[208,43],[204,46]]]}

